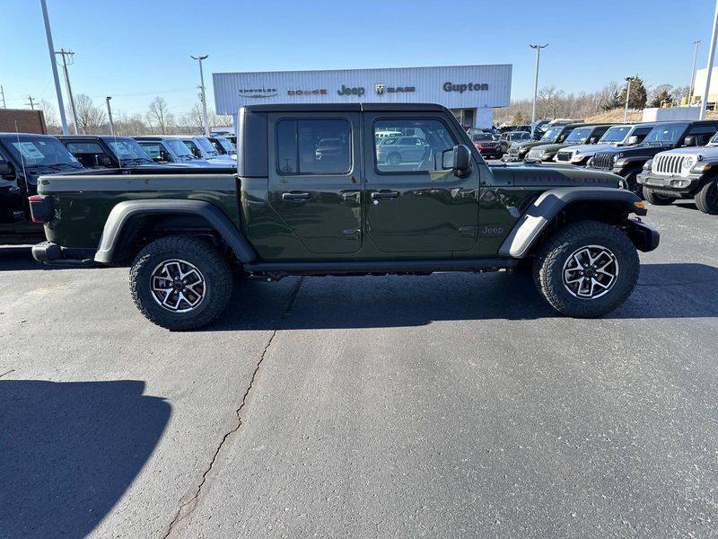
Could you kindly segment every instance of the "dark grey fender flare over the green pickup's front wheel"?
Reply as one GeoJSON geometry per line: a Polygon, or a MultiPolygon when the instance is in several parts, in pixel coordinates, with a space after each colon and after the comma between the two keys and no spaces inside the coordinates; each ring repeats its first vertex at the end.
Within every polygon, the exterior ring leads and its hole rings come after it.
{"type": "MultiPolygon", "coordinates": [[[[618,202],[627,213],[639,213],[634,202],[640,201],[629,190],[610,187],[560,187],[544,191],[513,226],[499,247],[499,255],[523,258],[553,218],[573,202],[618,202]]],[[[645,215],[645,211],[641,213],[645,215]]]]}

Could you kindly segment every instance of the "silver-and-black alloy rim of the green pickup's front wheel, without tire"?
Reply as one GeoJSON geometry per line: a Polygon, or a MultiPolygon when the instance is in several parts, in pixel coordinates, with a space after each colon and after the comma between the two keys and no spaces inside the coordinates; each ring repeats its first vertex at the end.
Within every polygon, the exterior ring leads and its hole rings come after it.
{"type": "Polygon", "coordinates": [[[569,294],[596,299],[608,294],[618,278],[616,255],[602,245],[586,245],[566,259],[562,279],[569,294]]]}

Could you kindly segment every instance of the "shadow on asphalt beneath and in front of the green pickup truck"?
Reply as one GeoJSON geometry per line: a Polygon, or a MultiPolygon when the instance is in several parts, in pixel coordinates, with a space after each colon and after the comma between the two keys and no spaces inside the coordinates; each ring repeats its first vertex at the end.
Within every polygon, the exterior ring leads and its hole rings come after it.
{"type": "MultiPolygon", "coordinates": [[[[643,264],[633,295],[604,318],[718,316],[716,289],[718,269],[712,266],[643,264]]],[[[407,327],[557,316],[526,274],[285,278],[237,283],[230,307],[205,331],[407,327]]]]}

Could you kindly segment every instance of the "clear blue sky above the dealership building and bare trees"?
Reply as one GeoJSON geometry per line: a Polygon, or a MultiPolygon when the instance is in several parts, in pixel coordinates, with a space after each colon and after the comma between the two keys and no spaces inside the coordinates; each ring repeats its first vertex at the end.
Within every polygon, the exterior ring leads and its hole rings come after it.
{"type": "MultiPolygon", "coordinates": [[[[213,72],[512,64],[512,98],[539,86],[594,91],[638,74],[687,85],[693,41],[704,67],[714,0],[47,0],[55,48],[72,49],[74,93],[113,110],[147,110],[157,94],[173,113],[197,102],[197,62],[213,72]],[[686,4],[688,5],[688,4],[686,4]],[[600,6],[600,8],[598,7],[600,6]]],[[[8,108],[27,95],[56,102],[39,0],[2,0],[0,84],[8,108]]]]}

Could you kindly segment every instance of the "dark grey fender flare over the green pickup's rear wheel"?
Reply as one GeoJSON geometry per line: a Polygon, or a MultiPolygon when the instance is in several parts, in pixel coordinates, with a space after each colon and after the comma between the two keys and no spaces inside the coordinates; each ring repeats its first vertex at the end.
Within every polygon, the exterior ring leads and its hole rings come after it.
{"type": "Polygon", "coordinates": [[[95,261],[112,263],[122,231],[134,217],[150,215],[192,215],[204,217],[242,262],[257,260],[257,253],[222,210],[205,200],[126,200],[109,212],[95,261]]]}

